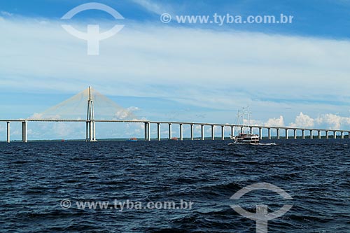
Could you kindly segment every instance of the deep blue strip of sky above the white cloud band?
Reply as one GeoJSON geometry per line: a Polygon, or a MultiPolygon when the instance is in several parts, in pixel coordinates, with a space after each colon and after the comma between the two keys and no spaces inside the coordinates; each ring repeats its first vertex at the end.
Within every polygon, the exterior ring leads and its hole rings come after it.
{"type": "MultiPolygon", "coordinates": [[[[85,0],[13,0],[1,1],[0,8],[8,13],[25,17],[48,18],[59,20],[67,11],[85,0]]],[[[350,1],[348,0],[241,0],[241,1],[94,1],[104,3],[122,13],[126,20],[136,22],[152,22],[160,24],[159,12],[176,15],[212,15],[218,13],[225,15],[279,15],[280,13],[294,15],[295,23],[286,25],[235,25],[233,29],[262,31],[265,33],[294,34],[304,36],[321,36],[328,38],[349,38],[350,31],[350,1]]],[[[111,16],[90,10],[77,15],[80,20],[86,18],[105,18],[111,16]]],[[[188,25],[187,25],[188,26],[188,25]]],[[[198,25],[196,25],[198,27],[198,25]]],[[[225,25],[224,29],[232,29],[225,25]]]]}

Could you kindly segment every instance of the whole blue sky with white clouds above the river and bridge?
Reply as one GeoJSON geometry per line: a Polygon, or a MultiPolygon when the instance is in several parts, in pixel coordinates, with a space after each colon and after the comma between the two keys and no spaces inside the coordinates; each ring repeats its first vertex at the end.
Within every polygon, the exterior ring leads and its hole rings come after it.
{"type": "MultiPolygon", "coordinates": [[[[61,19],[90,1],[0,0],[0,119],[30,118],[91,85],[140,119],[235,123],[237,110],[249,106],[257,125],[350,127],[349,0],[94,2],[124,19],[102,10],[61,19]],[[162,22],[164,13],[171,22],[162,22]],[[281,14],[293,22],[176,21],[281,14]],[[87,24],[101,31],[124,27],[99,41],[99,55],[87,55],[87,41],[62,24],[82,32],[87,24]]],[[[5,127],[0,123],[0,141],[5,127]]],[[[13,127],[19,138],[19,126],[13,127]]],[[[51,127],[33,126],[29,139],[74,138],[84,130],[51,127]]],[[[97,136],[141,137],[143,131],[142,125],[118,127],[97,136]]]]}

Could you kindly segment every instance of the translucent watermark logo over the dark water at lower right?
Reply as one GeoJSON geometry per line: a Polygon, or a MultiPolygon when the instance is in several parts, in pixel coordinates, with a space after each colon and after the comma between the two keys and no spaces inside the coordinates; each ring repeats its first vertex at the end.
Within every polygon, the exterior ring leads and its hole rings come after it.
{"type": "MultiPolygon", "coordinates": [[[[246,193],[251,192],[253,190],[270,190],[273,192],[278,193],[283,197],[283,199],[293,199],[288,195],[288,193],[285,190],[282,190],[281,188],[277,187],[276,185],[272,185],[270,183],[254,183],[253,185],[248,185],[238,192],[235,193],[235,195],[232,195],[230,199],[240,199],[243,197],[246,193]]],[[[281,209],[278,211],[274,211],[272,213],[268,212],[268,206],[266,205],[256,205],[256,213],[251,213],[249,211],[246,211],[245,209],[241,208],[241,206],[234,206],[232,205],[231,208],[234,209],[237,213],[239,213],[241,216],[244,216],[246,218],[249,218],[251,220],[254,220],[256,222],[256,232],[257,233],[267,233],[267,221],[279,218],[283,216],[285,213],[287,213],[293,205],[283,205],[281,209]]]]}

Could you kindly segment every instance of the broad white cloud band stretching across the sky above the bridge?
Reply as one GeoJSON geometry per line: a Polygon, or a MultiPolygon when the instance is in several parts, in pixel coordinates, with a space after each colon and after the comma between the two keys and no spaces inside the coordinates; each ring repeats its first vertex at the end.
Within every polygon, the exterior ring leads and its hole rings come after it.
{"type": "MultiPolygon", "coordinates": [[[[67,34],[61,22],[41,21],[0,21],[6,31],[0,37],[0,90],[71,94],[92,85],[106,95],[221,111],[249,105],[255,119],[274,125],[288,125],[289,115],[300,111],[344,114],[329,99],[349,104],[349,41],[127,24],[93,57],[86,55],[86,41],[67,34]],[[276,115],[283,118],[271,118],[276,115]]],[[[206,120],[228,122],[223,115],[208,113],[206,120]]],[[[312,125],[305,116],[293,124],[312,125]]]]}

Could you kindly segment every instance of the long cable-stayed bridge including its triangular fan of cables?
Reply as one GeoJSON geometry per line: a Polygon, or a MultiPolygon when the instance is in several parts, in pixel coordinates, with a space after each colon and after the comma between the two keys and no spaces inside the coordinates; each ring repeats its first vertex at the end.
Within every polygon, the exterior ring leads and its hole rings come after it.
{"type": "MultiPolygon", "coordinates": [[[[248,128],[250,132],[258,129],[260,139],[262,139],[263,131],[267,131],[267,139],[272,139],[272,130],[275,132],[274,139],[350,139],[350,129],[314,129],[314,128],[298,128],[298,127],[274,127],[261,125],[232,125],[232,124],[217,124],[209,122],[176,122],[176,121],[152,121],[140,120],[129,109],[125,109],[116,104],[111,99],[105,97],[103,94],[88,87],[83,92],[62,101],[48,108],[42,113],[34,113],[30,118],[20,120],[0,120],[6,122],[6,141],[10,142],[10,123],[20,122],[22,125],[22,141],[28,141],[28,122],[85,122],[85,141],[97,141],[96,138],[96,123],[97,122],[124,122],[124,123],[142,123],[144,124],[144,140],[151,141],[151,125],[157,128],[157,134],[154,139],[160,141],[160,125],[167,125],[167,139],[173,139],[172,127],[178,125],[179,140],[183,140],[183,127],[190,128],[190,140],[195,140],[194,127],[200,127],[200,140],[211,139],[215,140],[215,128],[221,128],[221,135],[219,139],[225,140],[225,129],[230,135],[233,135],[236,129],[243,130],[248,128]],[[211,134],[209,137],[204,135],[204,127],[210,127],[211,134]],[[281,131],[284,134],[281,135],[281,131]],[[293,134],[290,134],[292,132],[293,134]],[[301,136],[297,136],[297,132],[301,132],[301,136]],[[308,132],[308,134],[305,134],[308,132]],[[314,134],[316,132],[316,134],[314,134]],[[330,134],[331,133],[331,134],[330,134]]],[[[176,137],[177,139],[177,137],[176,137]]]]}

